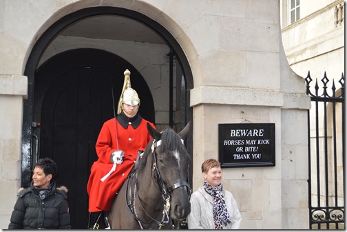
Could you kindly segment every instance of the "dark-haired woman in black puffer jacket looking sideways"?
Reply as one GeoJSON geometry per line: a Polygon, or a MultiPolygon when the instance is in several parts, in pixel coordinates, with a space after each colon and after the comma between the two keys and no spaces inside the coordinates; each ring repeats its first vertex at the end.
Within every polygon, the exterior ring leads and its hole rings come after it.
{"type": "Polygon", "coordinates": [[[18,193],[8,229],[71,229],[67,188],[56,188],[56,163],[36,163],[30,187],[18,193]]]}

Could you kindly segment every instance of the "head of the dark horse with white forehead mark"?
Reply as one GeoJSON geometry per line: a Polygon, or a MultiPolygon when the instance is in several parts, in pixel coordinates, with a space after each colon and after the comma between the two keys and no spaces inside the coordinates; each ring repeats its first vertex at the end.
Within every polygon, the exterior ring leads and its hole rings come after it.
{"type": "Polygon", "coordinates": [[[190,122],[180,133],[169,128],[160,132],[147,124],[153,144],[153,171],[162,194],[169,204],[169,212],[174,220],[185,220],[190,213],[189,165],[191,158],[183,139],[190,130],[190,122]]]}

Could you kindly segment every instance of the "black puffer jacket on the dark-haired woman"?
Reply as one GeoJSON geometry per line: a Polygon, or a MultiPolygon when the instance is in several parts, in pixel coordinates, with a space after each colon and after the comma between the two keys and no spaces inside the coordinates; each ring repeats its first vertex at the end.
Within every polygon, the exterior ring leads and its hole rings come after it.
{"type": "Polygon", "coordinates": [[[8,229],[71,229],[67,188],[56,189],[54,182],[44,200],[34,188],[31,183],[18,193],[8,229]]]}

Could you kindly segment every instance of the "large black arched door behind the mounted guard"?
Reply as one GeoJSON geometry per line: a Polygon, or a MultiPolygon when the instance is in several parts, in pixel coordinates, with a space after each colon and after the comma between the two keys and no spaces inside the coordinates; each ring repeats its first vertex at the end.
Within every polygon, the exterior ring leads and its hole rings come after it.
{"type": "Polygon", "coordinates": [[[123,88],[123,72],[132,71],[132,87],[141,99],[139,113],[154,122],[154,104],[144,79],[132,65],[114,54],[76,50],[57,55],[35,76],[34,120],[41,124],[35,160],[50,157],[58,165],[56,183],[68,189],[72,229],[87,229],[87,180],[97,160],[95,143],[123,88]],[[116,65],[115,65],[116,64],[116,65]],[[133,76],[134,75],[134,76],[133,76]]]}

